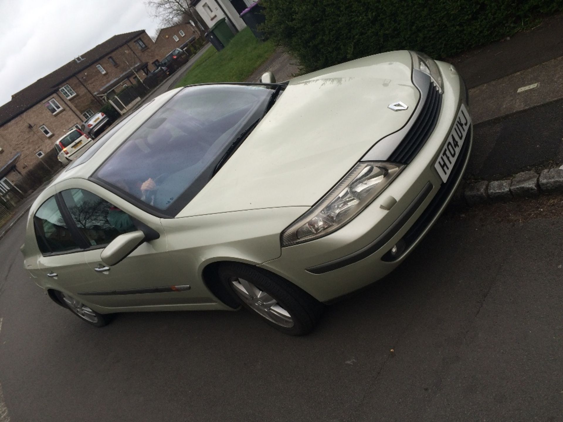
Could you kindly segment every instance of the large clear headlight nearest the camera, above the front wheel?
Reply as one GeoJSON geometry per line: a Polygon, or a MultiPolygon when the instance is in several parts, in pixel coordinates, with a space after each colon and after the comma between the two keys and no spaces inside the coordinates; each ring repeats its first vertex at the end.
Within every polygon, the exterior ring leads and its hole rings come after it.
{"type": "Polygon", "coordinates": [[[337,230],[368,206],[403,169],[401,164],[364,161],[282,232],[282,246],[318,239],[337,230]]]}

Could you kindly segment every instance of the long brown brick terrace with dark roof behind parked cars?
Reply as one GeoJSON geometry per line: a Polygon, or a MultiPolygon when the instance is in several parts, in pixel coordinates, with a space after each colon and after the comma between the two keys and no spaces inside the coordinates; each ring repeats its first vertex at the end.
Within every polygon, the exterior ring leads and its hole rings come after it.
{"type": "MultiPolygon", "coordinates": [[[[191,37],[187,28],[182,31],[183,38],[191,37]]],[[[0,107],[0,190],[54,154],[58,138],[124,86],[144,79],[170,50],[164,42],[155,44],[145,30],[114,35],[12,95],[0,107]]]]}

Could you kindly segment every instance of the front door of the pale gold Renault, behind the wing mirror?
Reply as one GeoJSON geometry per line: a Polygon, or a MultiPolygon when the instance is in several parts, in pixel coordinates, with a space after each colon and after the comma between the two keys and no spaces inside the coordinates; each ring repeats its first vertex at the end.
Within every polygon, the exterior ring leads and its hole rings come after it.
{"type": "Polygon", "coordinates": [[[202,303],[200,296],[209,294],[192,289],[190,275],[178,271],[177,258],[167,253],[166,235],[158,217],[95,183],[80,184],[71,187],[72,183],[61,183],[59,191],[74,224],[89,244],[84,251],[89,269],[78,292],[84,300],[107,308],[140,309],[202,303]],[[101,253],[112,240],[143,226],[157,231],[159,238],[142,243],[114,266],[102,262],[101,253]]]}

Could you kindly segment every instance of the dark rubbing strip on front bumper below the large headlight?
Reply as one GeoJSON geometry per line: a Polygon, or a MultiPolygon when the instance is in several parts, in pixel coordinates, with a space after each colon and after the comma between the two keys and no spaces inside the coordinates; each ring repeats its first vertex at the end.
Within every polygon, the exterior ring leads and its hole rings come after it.
{"type": "Polygon", "coordinates": [[[334,261],[325,262],[324,264],[320,264],[314,267],[307,268],[306,271],[312,274],[323,274],[325,272],[337,270],[338,268],[345,267],[347,265],[353,264],[355,262],[361,261],[361,259],[369,257],[369,255],[376,252],[378,249],[382,248],[388,241],[392,239],[393,236],[401,230],[409,218],[413,216],[419,206],[422,205],[426,197],[432,192],[432,183],[427,182],[426,186],[422,189],[422,191],[414,198],[412,203],[406,208],[403,213],[397,218],[392,225],[387,228],[376,240],[370,243],[364,248],[351,253],[350,255],[346,255],[345,257],[334,259],[334,261]]]}

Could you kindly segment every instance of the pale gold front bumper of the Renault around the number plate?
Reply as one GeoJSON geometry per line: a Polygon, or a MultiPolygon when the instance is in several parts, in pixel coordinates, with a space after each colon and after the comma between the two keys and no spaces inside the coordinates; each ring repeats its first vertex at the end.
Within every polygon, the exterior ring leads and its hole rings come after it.
{"type": "Polygon", "coordinates": [[[300,245],[282,248],[279,258],[260,267],[285,277],[321,302],[346,295],[381,279],[397,267],[430,230],[461,182],[471,152],[473,131],[466,135],[461,156],[443,183],[434,163],[452,130],[464,84],[449,64],[437,62],[444,79],[443,104],[434,132],[403,172],[346,226],[300,245]],[[388,196],[397,203],[380,208],[388,196]],[[388,254],[404,242],[398,257],[388,254]]]}

